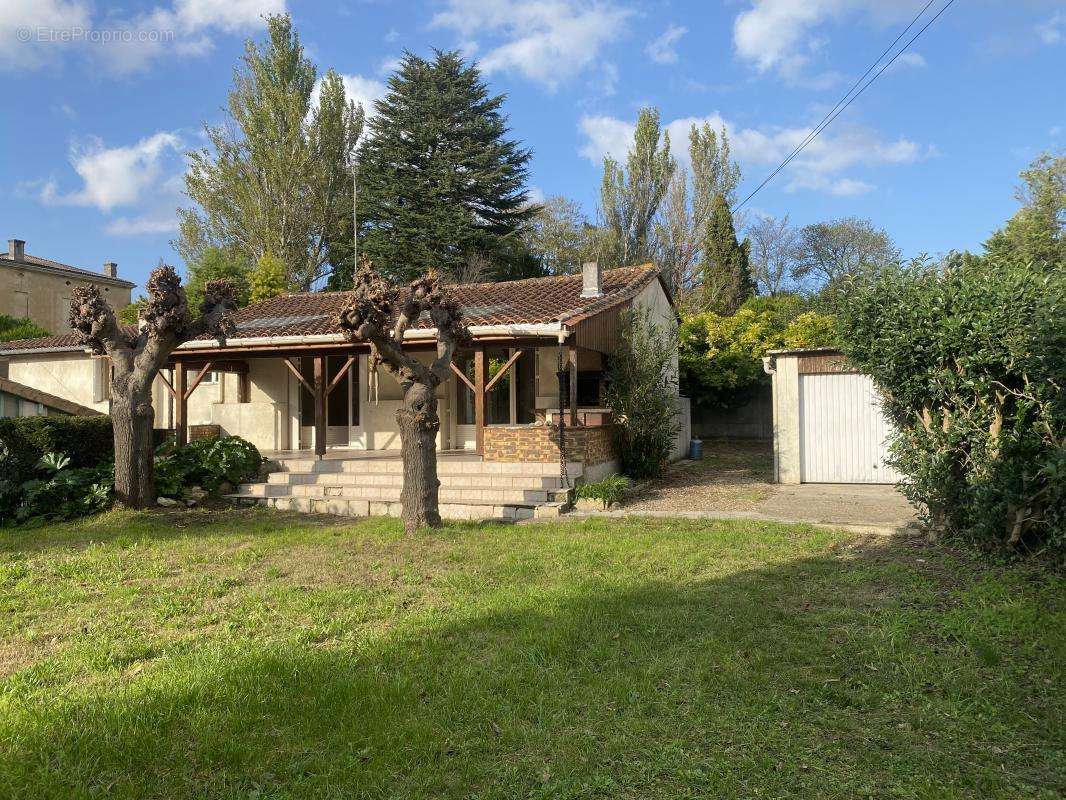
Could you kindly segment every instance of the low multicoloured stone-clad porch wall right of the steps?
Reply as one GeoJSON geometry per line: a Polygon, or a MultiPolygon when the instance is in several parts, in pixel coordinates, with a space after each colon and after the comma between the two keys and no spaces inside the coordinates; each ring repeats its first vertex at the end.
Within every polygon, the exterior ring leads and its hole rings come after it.
{"type": "MultiPolygon", "coordinates": [[[[585,466],[613,461],[613,426],[567,428],[566,460],[585,466]]],[[[485,461],[555,463],[559,429],[554,426],[489,426],[485,428],[485,461]]]]}

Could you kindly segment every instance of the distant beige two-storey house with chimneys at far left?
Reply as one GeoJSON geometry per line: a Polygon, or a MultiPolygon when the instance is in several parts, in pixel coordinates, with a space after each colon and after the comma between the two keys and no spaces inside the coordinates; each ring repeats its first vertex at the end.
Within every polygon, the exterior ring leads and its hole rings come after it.
{"type": "Polygon", "coordinates": [[[118,277],[118,265],[106,261],[103,272],[83,270],[30,255],[21,239],[9,239],[0,254],[0,314],[30,319],[55,334],[70,330],[70,291],[96,284],[116,310],[130,304],[134,284],[118,277]]]}

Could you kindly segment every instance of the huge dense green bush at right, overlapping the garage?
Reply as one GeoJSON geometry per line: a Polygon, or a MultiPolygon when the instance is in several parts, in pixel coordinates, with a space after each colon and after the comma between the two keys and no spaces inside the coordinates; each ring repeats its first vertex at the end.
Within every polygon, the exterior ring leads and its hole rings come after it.
{"type": "Polygon", "coordinates": [[[935,532],[1066,554],[1066,270],[953,256],[857,278],[841,343],[935,532]]]}

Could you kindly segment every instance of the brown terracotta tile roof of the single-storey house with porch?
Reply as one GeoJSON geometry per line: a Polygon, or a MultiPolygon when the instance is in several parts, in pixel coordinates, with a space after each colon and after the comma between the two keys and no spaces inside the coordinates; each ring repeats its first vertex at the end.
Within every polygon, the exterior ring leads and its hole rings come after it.
{"type": "MultiPolygon", "coordinates": [[[[470,327],[485,325],[574,325],[583,319],[632,300],[659,277],[650,263],[604,270],[599,298],[582,298],[581,275],[532,277],[495,284],[459,284],[448,287],[470,327]]],[[[238,308],[230,314],[236,326],[229,341],[253,338],[339,335],[334,316],[346,292],[324,291],[282,294],[238,308]]],[[[420,319],[413,327],[432,327],[420,319]]],[[[203,337],[210,339],[210,336],[203,337]]],[[[0,342],[0,355],[13,350],[81,349],[75,334],[0,342]]]]}

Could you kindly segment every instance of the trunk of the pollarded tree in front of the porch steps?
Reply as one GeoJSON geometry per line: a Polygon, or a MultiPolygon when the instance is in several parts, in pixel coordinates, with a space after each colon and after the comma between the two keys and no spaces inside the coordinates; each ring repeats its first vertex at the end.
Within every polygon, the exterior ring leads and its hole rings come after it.
{"type": "Polygon", "coordinates": [[[403,453],[403,527],[407,533],[419,528],[440,527],[437,508],[437,417],[436,386],[413,383],[397,411],[403,453]]]}

